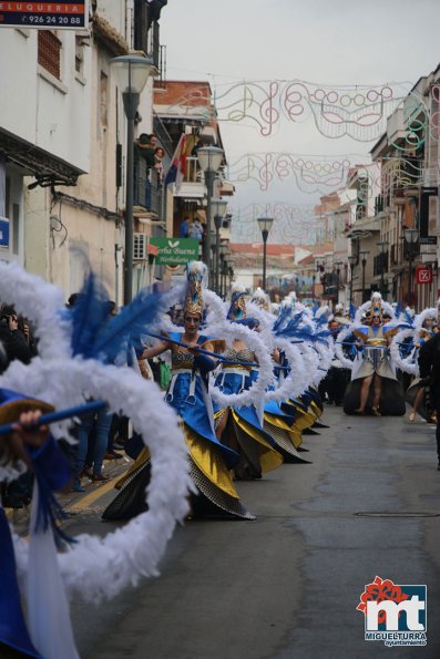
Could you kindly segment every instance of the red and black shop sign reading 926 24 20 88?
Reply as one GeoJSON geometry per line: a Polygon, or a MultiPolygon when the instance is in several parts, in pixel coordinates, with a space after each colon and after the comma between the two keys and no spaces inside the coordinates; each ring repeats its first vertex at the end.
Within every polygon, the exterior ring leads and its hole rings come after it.
{"type": "Polygon", "coordinates": [[[89,28],[89,0],[0,2],[0,27],[84,30],[89,28]]]}

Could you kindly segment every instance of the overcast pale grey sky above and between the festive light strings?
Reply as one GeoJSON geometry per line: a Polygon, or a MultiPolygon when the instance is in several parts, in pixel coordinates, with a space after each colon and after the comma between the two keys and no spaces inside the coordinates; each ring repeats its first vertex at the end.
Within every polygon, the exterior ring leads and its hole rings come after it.
{"type": "MultiPolygon", "coordinates": [[[[217,94],[243,80],[407,82],[400,89],[409,90],[440,62],[439,19],[439,0],[168,0],[161,42],[168,80],[208,80],[217,94]]],[[[375,143],[325,137],[311,117],[283,120],[270,137],[250,124],[221,123],[229,163],[254,152],[361,156],[375,143]]],[[[318,196],[298,191],[293,178],[265,193],[248,182],[237,185],[234,204],[313,204],[318,196]]]]}

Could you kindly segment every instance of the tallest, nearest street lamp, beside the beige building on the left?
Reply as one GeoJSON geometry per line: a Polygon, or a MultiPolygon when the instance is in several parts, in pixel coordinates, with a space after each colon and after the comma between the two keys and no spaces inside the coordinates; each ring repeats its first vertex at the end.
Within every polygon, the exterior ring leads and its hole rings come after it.
{"type": "Polygon", "coordinates": [[[125,258],[124,258],[124,305],[133,297],[133,196],[134,196],[134,120],[140,95],[149,76],[154,71],[153,61],[140,55],[121,55],[110,60],[122,92],[126,128],[126,179],[125,179],[125,258]]]}

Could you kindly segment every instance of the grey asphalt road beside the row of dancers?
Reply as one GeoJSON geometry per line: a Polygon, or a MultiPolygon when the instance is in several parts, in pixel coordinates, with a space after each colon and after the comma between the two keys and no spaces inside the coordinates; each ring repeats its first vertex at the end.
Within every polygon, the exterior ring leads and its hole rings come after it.
{"type": "MultiPolygon", "coordinates": [[[[187,523],[161,577],[111,603],[73,603],[82,659],[440,657],[434,430],[335,408],[323,421],[330,428],[304,440],[313,464],[239,485],[255,522],[187,523]],[[426,647],[365,640],[356,606],[376,575],[427,585],[426,647]]],[[[109,496],[73,531],[106,532],[109,496]]]]}

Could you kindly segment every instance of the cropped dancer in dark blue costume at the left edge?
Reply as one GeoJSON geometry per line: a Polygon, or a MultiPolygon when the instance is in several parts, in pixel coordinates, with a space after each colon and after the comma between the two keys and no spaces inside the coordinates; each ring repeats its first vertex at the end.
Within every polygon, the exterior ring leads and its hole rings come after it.
{"type": "Polygon", "coordinates": [[[53,408],[42,401],[0,389],[0,424],[13,424],[12,433],[0,436],[0,480],[10,481],[14,471],[22,473],[27,468],[35,478],[30,524],[33,563],[28,573],[25,597],[28,624],[21,608],[11,531],[0,506],[0,657],[4,658],[78,659],[58,568],[51,566],[51,583],[44,588],[38,587],[35,574],[42,570],[45,559],[41,555],[42,547],[44,555],[49,552],[49,559],[51,550],[54,552],[53,537],[50,535],[49,546],[42,539],[48,536],[51,491],[68,492],[72,481],[70,466],[49,434],[49,428],[35,426],[41,413],[51,410],[53,408]],[[38,614],[39,607],[44,610],[43,616],[38,614]]]}

